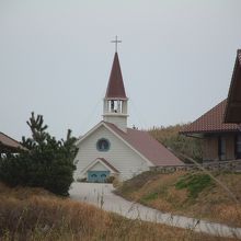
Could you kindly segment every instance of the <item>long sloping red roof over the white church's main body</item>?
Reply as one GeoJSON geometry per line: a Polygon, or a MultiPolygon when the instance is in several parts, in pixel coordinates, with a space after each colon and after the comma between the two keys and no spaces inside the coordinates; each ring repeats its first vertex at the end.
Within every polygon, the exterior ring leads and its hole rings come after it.
{"type": "Polygon", "coordinates": [[[182,165],[170,150],[152,138],[147,131],[127,128],[127,133],[122,131],[112,123],[104,122],[113,131],[127,141],[134,149],[140,152],[153,165],[182,165]]]}

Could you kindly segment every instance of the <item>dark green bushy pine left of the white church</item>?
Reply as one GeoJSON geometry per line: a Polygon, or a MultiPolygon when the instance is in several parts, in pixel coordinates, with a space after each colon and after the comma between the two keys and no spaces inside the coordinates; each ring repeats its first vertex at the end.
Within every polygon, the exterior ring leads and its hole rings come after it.
{"type": "Polygon", "coordinates": [[[77,148],[71,130],[66,140],[56,140],[47,133],[42,115],[34,113],[28,122],[32,137],[22,138],[22,145],[28,151],[0,159],[0,180],[11,186],[44,187],[58,195],[68,195],[73,181],[73,163],[77,148]]]}

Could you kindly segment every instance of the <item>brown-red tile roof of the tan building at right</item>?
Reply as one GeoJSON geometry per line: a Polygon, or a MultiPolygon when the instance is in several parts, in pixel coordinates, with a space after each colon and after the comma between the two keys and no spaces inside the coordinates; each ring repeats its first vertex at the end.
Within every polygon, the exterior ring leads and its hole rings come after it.
{"type": "Polygon", "coordinates": [[[238,131],[238,125],[225,124],[223,114],[227,100],[223,100],[198,119],[187,125],[182,134],[238,131]]]}

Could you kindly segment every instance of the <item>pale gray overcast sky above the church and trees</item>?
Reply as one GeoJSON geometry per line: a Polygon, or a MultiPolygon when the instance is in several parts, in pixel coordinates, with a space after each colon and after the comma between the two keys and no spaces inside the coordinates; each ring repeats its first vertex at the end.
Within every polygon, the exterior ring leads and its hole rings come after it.
{"type": "Polygon", "coordinates": [[[114,45],[128,125],[194,120],[227,97],[241,48],[240,0],[0,0],[0,131],[79,136],[102,119],[114,45]]]}

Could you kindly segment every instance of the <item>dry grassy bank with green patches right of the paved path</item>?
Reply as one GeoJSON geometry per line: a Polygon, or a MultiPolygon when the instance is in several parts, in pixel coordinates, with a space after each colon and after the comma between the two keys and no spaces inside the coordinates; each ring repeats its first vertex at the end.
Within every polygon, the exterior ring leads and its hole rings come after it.
{"type": "Polygon", "coordinates": [[[241,174],[213,174],[229,193],[203,172],[145,172],[124,182],[116,193],[161,211],[241,227],[241,174]]]}

